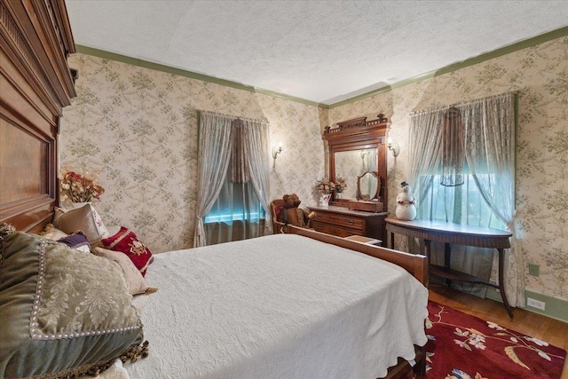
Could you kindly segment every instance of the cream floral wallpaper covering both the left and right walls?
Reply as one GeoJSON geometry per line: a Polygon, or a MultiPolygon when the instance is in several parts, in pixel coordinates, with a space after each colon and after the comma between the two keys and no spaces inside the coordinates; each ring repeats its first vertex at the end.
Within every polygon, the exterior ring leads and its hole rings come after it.
{"type": "Polygon", "coordinates": [[[106,225],[130,226],[154,252],[193,246],[197,111],[264,119],[283,151],[271,172],[271,198],[297,193],[308,205],[327,175],[321,132],[327,125],[386,114],[390,211],[406,180],[408,114],[506,91],[518,91],[517,231],[526,289],[568,300],[568,37],[321,109],[77,53],[78,96],[64,109],[59,162],[100,170],[106,193],[95,203],[106,225]],[[528,266],[527,266],[528,272],[528,266]]]}

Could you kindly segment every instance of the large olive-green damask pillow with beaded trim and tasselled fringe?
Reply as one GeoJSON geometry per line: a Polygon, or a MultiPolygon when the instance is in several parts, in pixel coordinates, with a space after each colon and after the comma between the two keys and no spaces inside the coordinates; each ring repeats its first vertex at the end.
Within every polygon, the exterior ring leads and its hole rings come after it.
{"type": "Polygon", "coordinates": [[[118,265],[28,233],[1,256],[0,377],[96,375],[147,355],[118,265]]]}

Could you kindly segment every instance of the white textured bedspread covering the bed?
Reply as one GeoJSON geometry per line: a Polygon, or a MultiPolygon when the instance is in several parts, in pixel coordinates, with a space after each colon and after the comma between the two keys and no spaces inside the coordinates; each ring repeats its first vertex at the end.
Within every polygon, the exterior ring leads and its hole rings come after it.
{"type": "Polygon", "coordinates": [[[428,291],[396,265],[289,234],[158,254],[138,378],[376,378],[426,343],[428,291]]]}

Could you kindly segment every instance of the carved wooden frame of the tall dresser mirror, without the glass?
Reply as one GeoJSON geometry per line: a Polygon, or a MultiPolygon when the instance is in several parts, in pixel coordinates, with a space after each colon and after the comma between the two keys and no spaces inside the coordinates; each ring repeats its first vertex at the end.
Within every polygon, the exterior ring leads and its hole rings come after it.
{"type": "MultiPolygon", "coordinates": [[[[377,149],[377,176],[381,182],[377,190],[377,198],[383,201],[384,209],[388,209],[387,199],[387,138],[390,122],[384,114],[378,114],[377,119],[367,121],[367,117],[337,122],[332,128],[326,126],[323,138],[327,141],[329,156],[329,179],[335,182],[335,153],[352,150],[377,149]]],[[[359,177],[359,173],[355,175],[359,177]]],[[[343,176],[345,174],[343,173],[343,176]]],[[[358,178],[359,186],[359,178],[358,178]]],[[[349,207],[349,202],[355,199],[335,199],[332,195],[330,205],[349,207]]]]}

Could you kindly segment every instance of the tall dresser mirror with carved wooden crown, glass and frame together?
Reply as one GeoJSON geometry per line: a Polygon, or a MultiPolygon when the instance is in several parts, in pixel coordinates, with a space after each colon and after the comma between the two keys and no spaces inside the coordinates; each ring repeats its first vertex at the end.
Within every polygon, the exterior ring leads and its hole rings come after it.
{"type": "Polygon", "coordinates": [[[350,201],[382,201],[387,209],[387,134],[389,120],[378,114],[327,126],[323,137],[329,149],[329,178],[343,178],[347,187],[334,193],[332,204],[348,207],[350,201]]]}

